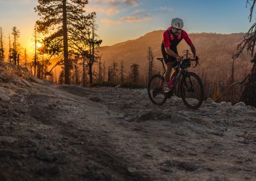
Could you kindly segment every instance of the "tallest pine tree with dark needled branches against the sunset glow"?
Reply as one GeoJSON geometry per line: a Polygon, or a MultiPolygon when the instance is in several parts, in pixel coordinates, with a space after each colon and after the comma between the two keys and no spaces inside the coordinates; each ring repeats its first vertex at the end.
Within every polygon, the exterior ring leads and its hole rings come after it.
{"type": "Polygon", "coordinates": [[[45,46],[50,54],[64,56],[65,83],[70,83],[69,54],[79,50],[72,41],[76,36],[77,22],[84,18],[84,6],[88,0],[38,0],[35,11],[41,17],[36,21],[40,33],[49,34],[45,38],[45,46]]]}

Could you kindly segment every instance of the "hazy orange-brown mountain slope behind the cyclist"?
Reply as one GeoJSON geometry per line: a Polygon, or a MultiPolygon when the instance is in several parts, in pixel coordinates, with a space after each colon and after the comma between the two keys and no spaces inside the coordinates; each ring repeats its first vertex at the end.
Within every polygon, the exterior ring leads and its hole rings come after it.
{"type": "MultiPolygon", "coordinates": [[[[211,76],[219,75],[221,78],[227,78],[230,74],[232,66],[232,54],[236,52],[236,46],[243,38],[243,33],[236,34],[214,34],[214,33],[192,33],[189,37],[193,41],[197,54],[200,57],[201,66],[193,71],[197,73],[204,73],[211,76]]],[[[99,48],[100,54],[102,54],[102,61],[105,61],[109,66],[113,61],[120,64],[124,61],[124,67],[126,71],[129,71],[129,66],[132,63],[137,63],[141,68],[141,75],[147,77],[147,50],[148,47],[152,48],[154,57],[161,57],[160,45],[163,37],[163,31],[153,31],[145,34],[136,40],[129,40],[122,43],[118,43],[113,46],[99,48]]],[[[190,48],[186,45],[185,41],[182,41],[179,45],[179,53],[182,54],[183,50],[190,48]]],[[[235,71],[237,76],[244,75],[251,68],[249,62],[250,57],[244,55],[244,57],[236,59],[235,71]]],[[[161,64],[155,59],[154,65],[158,69],[161,69],[161,64]]],[[[219,77],[219,78],[220,78],[219,77]]],[[[217,79],[217,78],[216,78],[217,79]]]]}

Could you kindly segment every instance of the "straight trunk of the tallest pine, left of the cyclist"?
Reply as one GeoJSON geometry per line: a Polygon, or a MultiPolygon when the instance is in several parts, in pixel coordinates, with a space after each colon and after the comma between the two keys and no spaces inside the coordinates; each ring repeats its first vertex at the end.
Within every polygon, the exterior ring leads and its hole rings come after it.
{"type": "Polygon", "coordinates": [[[68,30],[67,30],[67,0],[63,0],[63,48],[64,48],[64,71],[65,84],[70,84],[68,62],[68,30]]]}

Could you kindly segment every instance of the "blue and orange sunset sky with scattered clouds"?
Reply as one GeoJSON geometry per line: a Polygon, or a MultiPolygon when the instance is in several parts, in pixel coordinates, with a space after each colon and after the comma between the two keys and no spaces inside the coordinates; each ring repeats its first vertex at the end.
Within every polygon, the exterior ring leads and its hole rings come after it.
{"type": "MultiPolygon", "coordinates": [[[[32,48],[33,27],[38,17],[36,0],[0,0],[0,27],[4,44],[12,27],[20,30],[20,44],[32,48]]],[[[102,46],[134,40],[146,33],[165,30],[172,18],[184,20],[188,33],[245,33],[252,22],[246,0],[89,0],[88,13],[97,13],[97,34],[102,46]]]]}

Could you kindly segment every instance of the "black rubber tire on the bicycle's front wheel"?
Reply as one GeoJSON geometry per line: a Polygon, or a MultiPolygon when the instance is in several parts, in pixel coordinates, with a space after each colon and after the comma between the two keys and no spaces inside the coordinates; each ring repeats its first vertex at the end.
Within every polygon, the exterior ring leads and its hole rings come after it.
{"type": "Polygon", "coordinates": [[[182,98],[183,103],[188,108],[196,109],[196,108],[199,108],[202,105],[202,103],[204,101],[204,85],[203,85],[202,80],[200,79],[200,77],[198,75],[196,75],[193,72],[186,72],[186,73],[184,73],[182,75],[182,80],[180,82],[179,89],[180,89],[180,91],[179,91],[180,92],[180,97],[182,98]],[[193,83],[191,81],[191,78],[195,78],[194,84],[195,83],[198,83],[198,84],[197,85],[193,85],[193,83]],[[188,88],[188,82],[189,82],[189,85],[191,85],[189,88],[188,88]],[[198,87],[196,87],[196,86],[198,86],[198,87]],[[189,89],[189,90],[186,91],[186,89],[189,89]],[[198,95],[199,100],[195,99],[195,98],[186,98],[186,96],[185,96],[186,92],[189,92],[187,94],[193,94],[195,92],[195,90],[199,90],[200,91],[199,93],[197,93],[197,94],[199,94],[198,95]],[[195,102],[195,100],[198,100],[198,102],[195,105],[193,105],[192,103],[195,102]]]}

